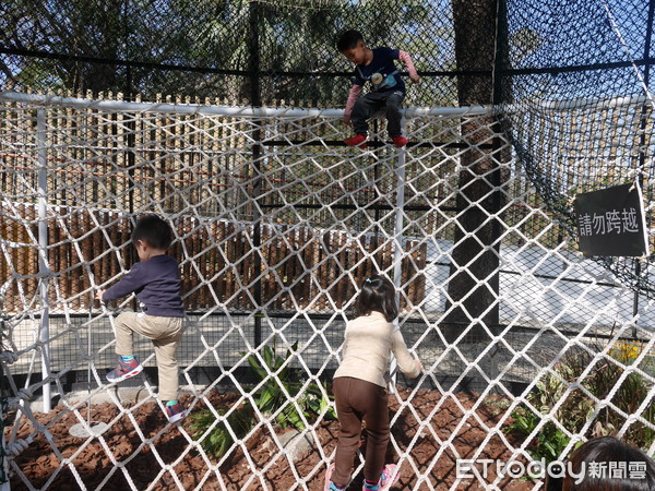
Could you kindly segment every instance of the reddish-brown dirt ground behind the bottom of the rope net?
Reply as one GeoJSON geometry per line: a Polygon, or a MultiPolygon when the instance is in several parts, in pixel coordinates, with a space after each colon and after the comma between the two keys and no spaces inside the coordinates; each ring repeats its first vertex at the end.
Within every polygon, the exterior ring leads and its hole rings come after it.
{"type": "MultiPolygon", "coordinates": [[[[405,399],[408,392],[400,391],[401,397],[405,399]]],[[[210,397],[213,405],[231,404],[237,399],[234,394],[215,393],[210,397]]],[[[393,399],[393,397],[391,397],[393,399]]],[[[413,399],[416,411],[425,418],[440,402],[441,394],[434,391],[419,391],[413,399]]],[[[476,400],[474,394],[457,395],[458,403],[464,408],[471,408],[476,400]]],[[[183,399],[182,399],[183,400],[183,399]]],[[[198,406],[196,406],[198,407],[198,406]]],[[[395,400],[391,404],[392,417],[398,411],[395,400]]],[[[478,417],[489,426],[493,426],[499,418],[500,405],[491,400],[478,410],[478,417]]],[[[86,409],[82,411],[86,415],[86,409]]],[[[103,434],[106,446],[102,440],[93,439],[83,446],[85,440],[71,436],[69,429],[76,423],[74,415],[63,414],[57,408],[50,414],[38,415],[41,424],[48,424],[52,434],[53,443],[58,448],[59,456],[52,451],[52,446],[39,434],[32,444],[17,455],[15,464],[34,488],[50,489],[58,491],[76,490],[74,474],[76,474],[87,489],[102,487],[105,490],[128,490],[123,472],[129,474],[134,487],[139,490],[146,489],[156,481],[153,489],[157,491],[179,489],[169,470],[162,472],[166,465],[176,462],[183,454],[181,460],[175,465],[175,472],[184,490],[191,490],[202,483],[202,490],[219,490],[223,487],[218,482],[215,471],[210,470],[207,462],[202,454],[194,448],[189,450],[188,439],[192,438],[189,429],[189,418],[178,427],[167,427],[165,417],[155,403],[145,403],[131,411],[133,421],[127,415],[120,416],[118,409],[110,405],[96,405],[92,408],[92,420],[111,422],[111,427],[103,434]],[[136,427],[134,426],[136,424],[136,427]],[[142,436],[140,436],[142,432],[142,436]],[[145,443],[143,443],[145,441],[145,443]],[[156,448],[156,452],[153,452],[156,448]],[[63,460],[60,460],[63,459],[63,460]],[[63,465],[60,463],[63,462],[63,465]],[[117,465],[118,464],[118,465],[117,465]]],[[[462,419],[462,409],[454,398],[448,398],[436,412],[431,421],[432,431],[440,439],[451,436],[455,426],[462,419]]],[[[32,424],[21,420],[19,438],[27,438],[32,432],[32,424]]],[[[11,424],[10,424],[11,427],[11,424]]],[[[405,448],[415,436],[420,427],[410,411],[404,410],[398,415],[397,421],[392,428],[392,433],[401,448],[405,448]]],[[[237,448],[219,467],[221,479],[228,490],[262,490],[267,488],[274,491],[288,491],[297,482],[297,477],[307,479],[310,490],[322,490],[324,482],[324,465],[321,462],[322,447],[324,455],[330,455],[335,445],[338,423],[336,421],[322,421],[317,428],[319,444],[309,450],[290,468],[288,460],[277,450],[266,430],[258,430],[251,438],[243,442],[248,452],[237,448]],[[252,479],[252,468],[265,470],[265,487],[258,479],[252,479]],[[296,474],[296,476],[295,476],[296,474]],[[249,481],[250,479],[250,481],[249,481]]],[[[486,432],[473,418],[458,432],[453,445],[462,458],[471,456],[481,445],[486,432]]],[[[513,442],[512,436],[508,439],[513,442]]],[[[513,442],[517,443],[517,442],[513,442]]],[[[362,436],[362,448],[366,446],[366,438],[362,436]]],[[[401,478],[394,489],[414,489],[418,482],[419,474],[429,472],[431,484],[438,490],[448,490],[455,480],[455,457],[452,451],[446,450],[434,463],[433,457],[439,451],[439,444],[426,428],[417,439],[412,450],[414,465],[405,460],[401,467],[401,478]]],[[[511,452],[498,436],[493,436],[484,447],[479,458],[501,459],[507,462],[511,452]]],[[[389,462],[393,462],[393,448],[390,445],[389,462]]],[[[214,462],[212,460],[212,464],[214,462]]],[[[490,475],[490,481],[495,476],[490,475]]],[[[361,489],[361,475],[354,476],[348,490],[361,489]]],[[[523,491],[534,488],[536,482],[504,479],[500,489],[505,491],[523,491]]],[[[12,490],[29,489],[21,477],[13,472],[11,481],[12,490]]],[[[418,489],[429,489],[422,482],[418,489]]],[[[457,486],[462,490],[488,489],[477,480],[467,480],[457,486]]]]}

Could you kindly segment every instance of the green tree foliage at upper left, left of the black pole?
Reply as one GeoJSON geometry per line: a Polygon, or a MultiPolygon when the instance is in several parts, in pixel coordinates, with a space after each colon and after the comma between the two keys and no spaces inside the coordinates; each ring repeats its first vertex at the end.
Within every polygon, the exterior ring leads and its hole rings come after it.
{"type": "Polygon", "coordinates": [[[0,8],[0,43],[12,52],[0,58],[0,70],[7,86],[147,96],[198,94],[204,87],[207,95],[240,95],[212,70],[247,69],[247,4],[11,0],[0,8]],[[19,55],[25,51],[40,55],[19,55]],[[170,69],[155,69],[157,63],[170,69]]]}

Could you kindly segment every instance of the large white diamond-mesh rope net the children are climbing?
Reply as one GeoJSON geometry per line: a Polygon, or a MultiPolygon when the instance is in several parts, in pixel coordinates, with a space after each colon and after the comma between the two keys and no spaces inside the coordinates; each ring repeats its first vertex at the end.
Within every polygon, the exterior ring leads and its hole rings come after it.
{"type": "Polygon", "coordinates": [[[563,442],[550,459],[603,432],[655,451],[651,302],[634,308],[561,237],[489,110],[409,109],[406,149],[377,121],[361,151],[341,144],[338,110],[1,97],[4,439],[17,489],[321,489],[337,427],[330,405],[311,404],[329,397],[358,285],[378,272],[397,285],[401,330],[426,368],[398,375],[391,396],[402,489],[502,489],[515,479],[478,460],[533,462],[539,435],[563,442]],[[150,342],[136,344],[143,378],[105,380],[112,321],[133,299],[92,300],[133,264],[144,213],[176,231],[191,414],[178,426],[156,398],[150,342]],[[476,287],[457,291],[463,276],[476,287]],[[261,404],[266,390],[277,405],[261,404]],[[210,421],[201,431],[194,414],[210,421]],[[522,418],[523,434],[508,430],[522,418]],[[71,436],[73,423],[87,436],[71,436]],[[476,471],[457,472],[462,459],[476,471]]]}

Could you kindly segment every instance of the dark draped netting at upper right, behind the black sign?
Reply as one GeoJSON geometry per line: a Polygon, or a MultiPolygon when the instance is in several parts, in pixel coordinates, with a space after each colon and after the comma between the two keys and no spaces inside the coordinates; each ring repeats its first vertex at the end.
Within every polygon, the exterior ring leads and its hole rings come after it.
{"type": "MultiPolygon", "coordinates": [[[[509,5],[510,32],[533,22],[540,5],[514,3],[509,5]]],[[[643,189],[651,205],[646,223],[653,227],[655,98],[647,60],[653,12],[646,15],[646,4],[600,0],[540,13],[533,34],[543,49],[516,44],[512,70],[502,76],[501,106],[513,106],[500,108],[507,133],[539,195],[573,235],[575,195],[624,183],[643,189]],[[528,67],[552,69],[521,73],[528,67]]],[[[655,296],[652,255],[596,261],[642,295],[655,296]]]]}

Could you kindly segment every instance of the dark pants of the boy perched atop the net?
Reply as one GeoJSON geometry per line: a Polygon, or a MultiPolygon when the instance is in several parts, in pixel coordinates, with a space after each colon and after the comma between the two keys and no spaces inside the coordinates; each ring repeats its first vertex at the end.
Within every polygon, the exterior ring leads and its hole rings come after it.
{"type": "Polygon", "coordinates": [[[393,139],[403,134],[401,130],[401,120],[403,119],[401,106],[404,98],[405,94],[401,91],[370,92],[359,97],[350,113],[355,133],[368,134],[368,120],[376,116],[380,109],[385,109],[389,136],[393,139]]]}

